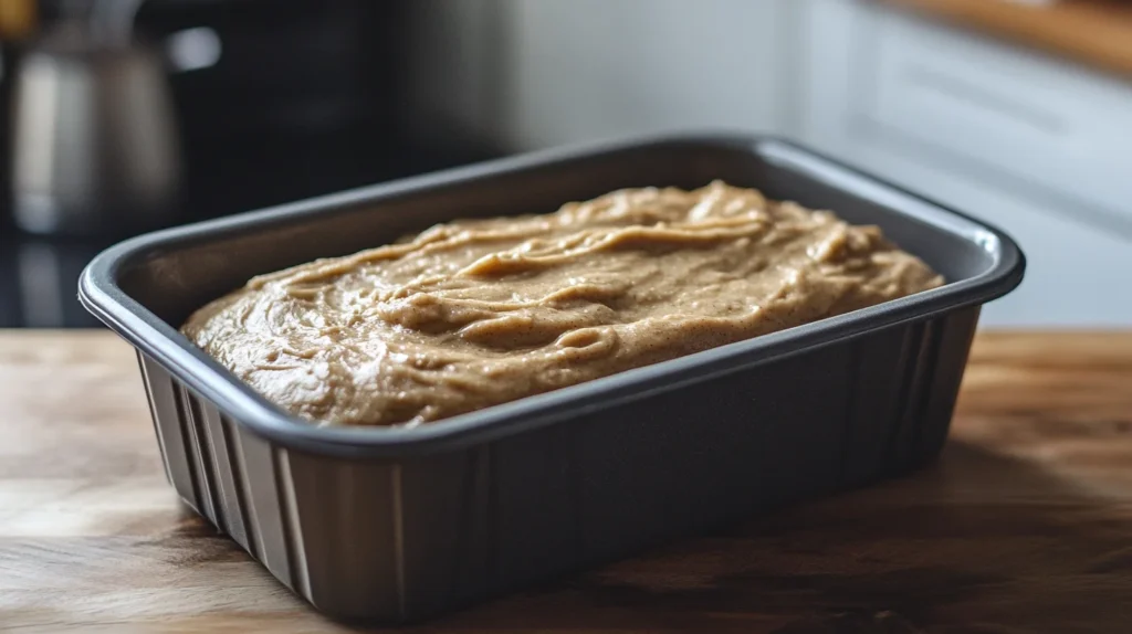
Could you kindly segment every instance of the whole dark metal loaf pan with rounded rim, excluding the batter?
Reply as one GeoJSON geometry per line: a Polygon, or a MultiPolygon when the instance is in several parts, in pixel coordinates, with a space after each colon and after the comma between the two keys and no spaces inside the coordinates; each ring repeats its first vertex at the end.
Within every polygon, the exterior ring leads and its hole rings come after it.
{"type": "Polygon", "coordinates": [[[912,469],[947,434],[1002,232],[747,136],[537,153],[162,231],[100,254],[84,305],[138,350],[169,480],[317,609],[404,622],[912,469]],[[318,427],[177,327],[248,278],[460,217],[713,179],[872,223],[941,288],[418,428],[318,427]]]}

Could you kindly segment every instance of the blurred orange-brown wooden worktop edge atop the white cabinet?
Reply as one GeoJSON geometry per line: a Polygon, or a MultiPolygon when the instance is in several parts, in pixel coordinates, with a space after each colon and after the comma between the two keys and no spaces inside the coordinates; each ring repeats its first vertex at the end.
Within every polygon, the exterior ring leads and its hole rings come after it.
{"type": "Polygon", "coordinates": [[[1132,77],[1132,2],[877,0],[1132,77]]]}

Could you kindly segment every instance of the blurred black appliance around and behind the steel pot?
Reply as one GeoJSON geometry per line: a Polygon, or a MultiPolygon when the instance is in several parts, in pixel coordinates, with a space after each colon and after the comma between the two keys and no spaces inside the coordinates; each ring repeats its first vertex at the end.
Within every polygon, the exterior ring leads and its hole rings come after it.
{"type": "MultiPolygon", "coordinates": [[[[42,23],[65,0],[41,1],[42,23]]],[[[497,155],[408,130],[412,0],[149,0],[136,31],[170,58],[186,223],[497,155]]],[[[18,45],[6,46],[7,66],[18,45]]],[[[0,79],[3,84],[10,84],[0,79]]],[[[0,115],[8,121],[7,86],[0,115]]],[[[418,122],[419,123],[419,122],[418,122]]],[[[426,124],[424,128],[428,125],[426,124]]],[[[7,174],[9,144],[0,139],[7,174]]],[[[75,299],[82,267],[113,238],[33,237],[0,180],[0,328],[94,327],[75,299]]]]}

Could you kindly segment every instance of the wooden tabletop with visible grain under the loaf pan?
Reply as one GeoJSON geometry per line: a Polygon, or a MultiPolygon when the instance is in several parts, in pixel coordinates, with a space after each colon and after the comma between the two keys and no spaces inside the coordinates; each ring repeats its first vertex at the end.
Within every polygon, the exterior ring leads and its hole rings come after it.
{"type": "MultiPolygon", "coordinates": [[[[942,460],[415,632],[1127,632],[1132,332],[978,338],[942,460]]],[[[0,631],[346,631],[165,484],[131,350],[0,332],[0,631]]]]}

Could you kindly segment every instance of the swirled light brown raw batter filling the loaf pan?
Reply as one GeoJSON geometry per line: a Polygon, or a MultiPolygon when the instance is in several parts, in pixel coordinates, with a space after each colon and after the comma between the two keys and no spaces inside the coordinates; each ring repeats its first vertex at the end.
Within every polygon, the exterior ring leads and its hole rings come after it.
{"type": "Polygon", "coordinates": [[[182,330],[311,422],[415,425],[941,284],[877,227],[713,182],[438,225],[256,277],[182,330]]]}

